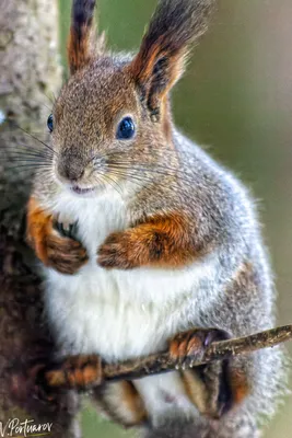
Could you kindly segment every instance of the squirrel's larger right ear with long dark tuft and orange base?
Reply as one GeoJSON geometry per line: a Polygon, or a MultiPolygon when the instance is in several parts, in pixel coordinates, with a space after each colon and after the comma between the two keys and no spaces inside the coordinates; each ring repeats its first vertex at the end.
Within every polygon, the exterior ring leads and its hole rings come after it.
{"type": "Polygon", "coordinates": [[[189,45],[207,30],[214,0],[160,0],[138,55],[128,67],[153,118],[184,72],[189,45]]]}

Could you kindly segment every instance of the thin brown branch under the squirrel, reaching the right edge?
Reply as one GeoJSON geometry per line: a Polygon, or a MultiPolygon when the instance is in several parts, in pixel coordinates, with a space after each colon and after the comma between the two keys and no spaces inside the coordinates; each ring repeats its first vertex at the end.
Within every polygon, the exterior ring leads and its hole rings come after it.
{"type": "MultiPolygon", "coordinates": [[[[197,367],[215,360],[226,359],[256,351],[261,348],[271,348],[292,339],[292,325],[271,328],[245,337],[238,337],[211,344],[199,358],[194,358],[188,367],[197,367]]],[[[150,355],[141,359],[127,360],[120,364],[106,364],[104,378],[106,381],[133,380],[150,374],[157,374],[186,366],[174,360],[168,353],[150,355]]]]}

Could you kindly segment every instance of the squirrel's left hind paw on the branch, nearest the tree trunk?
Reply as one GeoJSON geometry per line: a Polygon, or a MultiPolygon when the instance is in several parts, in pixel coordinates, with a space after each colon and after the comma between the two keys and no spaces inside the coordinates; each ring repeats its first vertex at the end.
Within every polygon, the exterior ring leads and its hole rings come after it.
{"type": "Polygon", "coordinates": [[[68,356],[40,368],[36,382],[47,394],[61,389],[89,390],[103,382],[102,359],[98,355],[68,356]]]}

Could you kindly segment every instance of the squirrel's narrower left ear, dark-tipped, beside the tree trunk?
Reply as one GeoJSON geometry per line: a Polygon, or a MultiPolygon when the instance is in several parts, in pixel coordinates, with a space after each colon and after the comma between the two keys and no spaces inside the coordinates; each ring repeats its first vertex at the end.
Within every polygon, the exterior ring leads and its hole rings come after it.
{"type": "Polygon", "coordinates": [[[86,66],[104,50],[104,35],[94,44],[93,28],[96,0],[73,0],[71,28],[68,42],[68,64],[71,74],[86,66]]]}

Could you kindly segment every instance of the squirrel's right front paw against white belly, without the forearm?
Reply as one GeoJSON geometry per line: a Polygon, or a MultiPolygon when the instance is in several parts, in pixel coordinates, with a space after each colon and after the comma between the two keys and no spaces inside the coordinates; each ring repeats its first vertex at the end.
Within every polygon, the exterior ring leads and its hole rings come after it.
{"type": "Polygon", "coordinates": [[[102,267],[118,269],[139,266],[129,232],[110,234],[97,251],[97,264],[102,267]]]}

